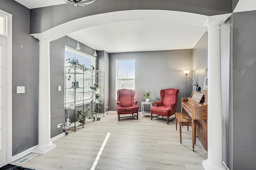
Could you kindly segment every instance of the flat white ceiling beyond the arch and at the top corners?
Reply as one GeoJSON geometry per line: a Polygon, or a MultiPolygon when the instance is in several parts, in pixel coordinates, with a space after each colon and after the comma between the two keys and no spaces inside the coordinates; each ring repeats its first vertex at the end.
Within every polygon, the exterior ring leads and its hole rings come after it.
{"type": "MultiPolygon", "coordinates": [[[[30,9],[66,3],[64,0],[16,1],[30,9]]],[[[240,0],[234,12],[255,9],[255,0],[240,0]]],[[[122,14],[113,12],[108,22],[103,21],[106,17],[102,16],[109,13],[100,14],[102,22],[97,17],[97,24],[68,33],[68,36],[108,53],[192,49],[206,32],[202,25],[207,16],[185,12],[178,14],[164,10],[132,10],[122,14]],[[124,19],[115,20],[120,16],[124,19]]]]}

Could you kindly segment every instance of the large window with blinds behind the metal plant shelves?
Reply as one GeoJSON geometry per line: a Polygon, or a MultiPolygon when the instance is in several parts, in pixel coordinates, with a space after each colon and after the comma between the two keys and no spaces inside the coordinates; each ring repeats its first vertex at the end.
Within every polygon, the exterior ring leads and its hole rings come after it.
{"type": "MultiPolygon", "coordinates": [[[[79,64],[84,64],[86,68],[90,68],[91,65],[95,66],[95,63],[96,63],[96,57],[90,56],[86,53],[82,53],[81,51],[65,46],[65,66],[70,66],[70,63],[66,61],[66,59],[69,59],[69,58],[78,59],[79,64]]],[[[79,70],[78,72],[82,73],[82,70],[79,70]]],[[[90,86],[92,86],[92,82],[95,82],[95,76],[92,77],[92,74],[93,73],[88,70],[84,72],[84,74],[77,74],[76,76],[77,82],[83,82],[83,78],[84,78],[84,98],[82,96],[83,93],[76,94],[77,105],[82,105],[83,100],[84,100],[84,103],[90,103],[91,101],[92,90],[90,89],[90,86]]],[[[74,103],[74,91],[68,88],[69,86],[70,87],[72,86],[71,84],[72,84],[72,80],[66,81],[65,83],[65,89],[66,89],[65,102],[67,107],[71,106],[74,103]]],[[[79,87],[81,86],[82,84],[79,84],[79,87]]]]}

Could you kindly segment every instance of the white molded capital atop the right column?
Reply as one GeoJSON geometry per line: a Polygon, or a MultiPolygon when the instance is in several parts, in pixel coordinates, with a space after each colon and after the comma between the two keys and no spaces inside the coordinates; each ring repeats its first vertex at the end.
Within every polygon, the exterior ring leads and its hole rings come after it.
{"type": "Polygon", "coordinates": [[[207,27],[208,30],[211,28],[220,28],[220,25],[224,23],[231,14],[222,14],[217,16],[209,16],[204,23],[204,27],[207,27]]]}

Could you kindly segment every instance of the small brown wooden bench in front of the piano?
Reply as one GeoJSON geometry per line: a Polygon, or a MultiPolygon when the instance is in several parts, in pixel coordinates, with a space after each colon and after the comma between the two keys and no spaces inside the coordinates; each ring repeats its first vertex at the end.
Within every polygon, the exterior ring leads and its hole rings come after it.
{"type": "Polygon", "coordinates": [[[175,113],[176,115],[176,130],[177,130],[177,122],[180,125],[180,144],[181,144],[181,126],[192,126],[192,119],[188,115],[188,113],[175,113]]]}

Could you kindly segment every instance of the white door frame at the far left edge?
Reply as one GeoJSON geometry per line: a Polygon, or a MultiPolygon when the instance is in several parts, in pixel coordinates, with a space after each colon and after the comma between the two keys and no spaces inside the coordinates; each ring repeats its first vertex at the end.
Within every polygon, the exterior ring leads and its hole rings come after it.
{"type": "Polygon", "coordinates": [[[7,36],[0,36],[6,39],[6,164],[8,164],[12,162],[12,14],[3,10],[0,10],[0,13],[7,16],[7,36]]]}

